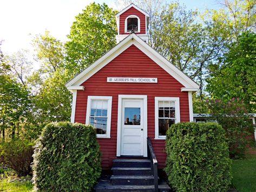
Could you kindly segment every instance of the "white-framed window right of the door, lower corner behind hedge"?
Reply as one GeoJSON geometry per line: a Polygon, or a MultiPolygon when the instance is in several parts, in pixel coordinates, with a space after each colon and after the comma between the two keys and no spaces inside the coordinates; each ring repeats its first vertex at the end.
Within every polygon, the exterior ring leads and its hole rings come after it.
{"type": "Polygon", "coordinates": [[[155,138],[165,139],[166,131],[180,122],[179,97],[155,97],[155,138]]]}

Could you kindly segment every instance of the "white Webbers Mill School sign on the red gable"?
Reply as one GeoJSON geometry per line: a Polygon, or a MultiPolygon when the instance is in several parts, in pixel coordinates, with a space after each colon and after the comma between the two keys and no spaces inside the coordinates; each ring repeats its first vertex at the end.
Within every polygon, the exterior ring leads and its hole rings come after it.
{"type": "Polygon", "coordinates": [[[113,82],[113,83],[157,83],[157,78],[107,77],[107,82],[113,82]]]}

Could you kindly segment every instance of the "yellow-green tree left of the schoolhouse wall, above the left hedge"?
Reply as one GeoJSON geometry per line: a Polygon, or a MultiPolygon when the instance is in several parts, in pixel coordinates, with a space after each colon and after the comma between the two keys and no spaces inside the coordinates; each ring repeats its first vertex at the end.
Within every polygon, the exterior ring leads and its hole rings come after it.
{"type": "Polygon", "coordinates": [[[65,87],[68,71],[57,70],[45,80],[40,93],[35,96],[35,116],[42,127],[49,122],[69,121],[71,114],[71,93],[65,87]],[[42,123],[43,122],[43,123],[42,123]]]}

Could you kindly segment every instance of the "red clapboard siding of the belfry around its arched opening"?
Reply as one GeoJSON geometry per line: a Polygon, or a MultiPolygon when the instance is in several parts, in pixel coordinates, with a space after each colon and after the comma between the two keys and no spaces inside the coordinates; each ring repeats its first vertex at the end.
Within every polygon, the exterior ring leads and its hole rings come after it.
{"type": "Polygon", "coordinates": [[[142,14],[142,12],[138,11],[135,8],[130,8],[126,12],[124,12],[122,15],[120,15],[120,20],[119,20],[119,34],[120,35],[126,35],[129,34],[127,32],[124,32],[124,23],[126,21],[126,17],[130,15],[136,15],[137,17],[140,18],[140,32],[136,32],[136,34],[146,34],[146,19],[145,15],[142,14]]]}

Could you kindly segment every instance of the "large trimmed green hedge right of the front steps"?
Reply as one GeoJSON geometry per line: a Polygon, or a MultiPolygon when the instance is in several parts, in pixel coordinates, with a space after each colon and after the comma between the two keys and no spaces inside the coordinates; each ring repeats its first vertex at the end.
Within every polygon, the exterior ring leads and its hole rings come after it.
{"type": "Polygon", "coordinates": [[[177,123],[167,131],[166,173],[176,191],[225,191],[231,160],[225,131],[216,123],[177,123]]]}

